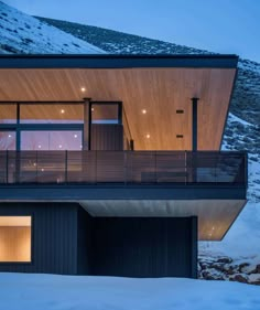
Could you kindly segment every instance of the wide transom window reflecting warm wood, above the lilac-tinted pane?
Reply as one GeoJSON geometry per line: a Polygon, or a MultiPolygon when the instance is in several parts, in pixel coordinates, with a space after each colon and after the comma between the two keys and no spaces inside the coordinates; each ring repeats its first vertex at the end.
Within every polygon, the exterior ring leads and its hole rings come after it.
{"type": "Polygon", "coordinates": [[[21,124],[83,124],[83,104],[22,104],[21,124]]]}

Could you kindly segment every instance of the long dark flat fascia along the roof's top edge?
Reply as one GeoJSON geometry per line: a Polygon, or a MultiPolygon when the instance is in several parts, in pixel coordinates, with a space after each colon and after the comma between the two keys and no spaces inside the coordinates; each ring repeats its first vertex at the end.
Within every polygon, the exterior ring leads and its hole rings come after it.
{"type": "Polygon", "coordinates": [[[232,54],[3,54],[1,68],[237,68],[232,54]]]}

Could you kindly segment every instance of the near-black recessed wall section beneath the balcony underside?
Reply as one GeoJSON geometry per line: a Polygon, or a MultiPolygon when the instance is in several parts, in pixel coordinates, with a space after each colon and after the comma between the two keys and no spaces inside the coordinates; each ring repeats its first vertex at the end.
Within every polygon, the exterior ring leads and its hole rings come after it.
{"type": "Polygon", "coordinates": [[[91,272],[196,277],[196,217],[96,217],[91,272]]]}

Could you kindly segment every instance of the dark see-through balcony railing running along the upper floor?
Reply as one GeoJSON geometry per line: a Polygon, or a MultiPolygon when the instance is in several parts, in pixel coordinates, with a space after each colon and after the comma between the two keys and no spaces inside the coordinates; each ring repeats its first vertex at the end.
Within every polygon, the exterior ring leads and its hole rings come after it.
{"type": "Polygon", "coordinates": [[[0,151],[0,184],[247,186],[247,154],[227,151],[0,151]]]}

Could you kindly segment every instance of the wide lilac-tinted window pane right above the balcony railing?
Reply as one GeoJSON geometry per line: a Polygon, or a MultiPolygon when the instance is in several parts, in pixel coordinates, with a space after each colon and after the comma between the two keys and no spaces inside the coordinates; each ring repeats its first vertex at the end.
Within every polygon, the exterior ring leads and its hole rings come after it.
{"type": "Polygon", "coordinates": [[[21,150],[82,150],[82,131],[21,131],[21,150]]]}

